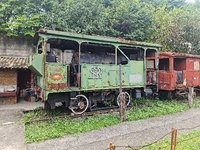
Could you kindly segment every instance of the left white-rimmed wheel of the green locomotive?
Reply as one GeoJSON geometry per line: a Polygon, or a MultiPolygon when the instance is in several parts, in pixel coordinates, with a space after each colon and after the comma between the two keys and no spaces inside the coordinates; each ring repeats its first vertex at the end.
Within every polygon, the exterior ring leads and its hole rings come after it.
{"type": "Polygon", "coordinates": [[[73,105],[69,109],[77,115],[84,113],[89,106],[89,101],[85,95],[77,95],[72,103],[73,105]]]}

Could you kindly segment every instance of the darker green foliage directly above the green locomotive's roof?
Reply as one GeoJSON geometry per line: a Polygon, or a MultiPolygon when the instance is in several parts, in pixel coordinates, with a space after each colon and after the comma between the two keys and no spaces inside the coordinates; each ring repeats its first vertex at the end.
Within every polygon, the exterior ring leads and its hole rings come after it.
{"type": "Polygon", "coordinates": [[[45,22],[51,29],[145,40],[149,7],[140,0],[68,0],[55,3],[45,22]]]}

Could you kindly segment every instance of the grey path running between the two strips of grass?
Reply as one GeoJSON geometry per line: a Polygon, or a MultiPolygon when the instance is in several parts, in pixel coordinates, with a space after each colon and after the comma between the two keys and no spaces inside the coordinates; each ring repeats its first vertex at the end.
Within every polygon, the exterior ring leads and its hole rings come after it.
{"type": "MultiPolygon", "coordinates": [[[[200,109],[156,117],[146,120],[125,122],[112,127],[92,131],[86,134],[66,136],[41,143],[27,145],[28,150],[105,150],[109,143],[130,145],[132,147],[151,143],[171,128],[192,128],[200,125],[200,109]]],[[[187,130],[188,131],[188,130],[187,130]]],[[[182,130],[184,132],[184,130],[182,130]]],[[[180,132],[178,133],[180,134],[180,132]]],[[[117,148],[121,150],[124,148],[117,148]]]]}

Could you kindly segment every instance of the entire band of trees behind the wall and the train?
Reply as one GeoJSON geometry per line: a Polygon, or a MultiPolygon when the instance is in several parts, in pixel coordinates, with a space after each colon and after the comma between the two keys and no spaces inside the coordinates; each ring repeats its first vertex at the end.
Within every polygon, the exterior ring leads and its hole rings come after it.
{"type": "Polygon", "coordinates": [[[39,27],[124,37],[163,45],[165,51],[199,53],[200,1],[1,0],[0,31],[34,35],[39,27]]]}

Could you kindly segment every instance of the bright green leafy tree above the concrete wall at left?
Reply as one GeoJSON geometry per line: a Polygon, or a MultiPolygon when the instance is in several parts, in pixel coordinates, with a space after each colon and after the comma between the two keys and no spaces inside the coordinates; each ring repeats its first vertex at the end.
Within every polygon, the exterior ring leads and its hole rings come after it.
{"type": "Polygon", "coordinates": [[[33,36],[43,24],[49,1],[2,0],[0,2],[0,30],[9,36],[33,36]]]}

